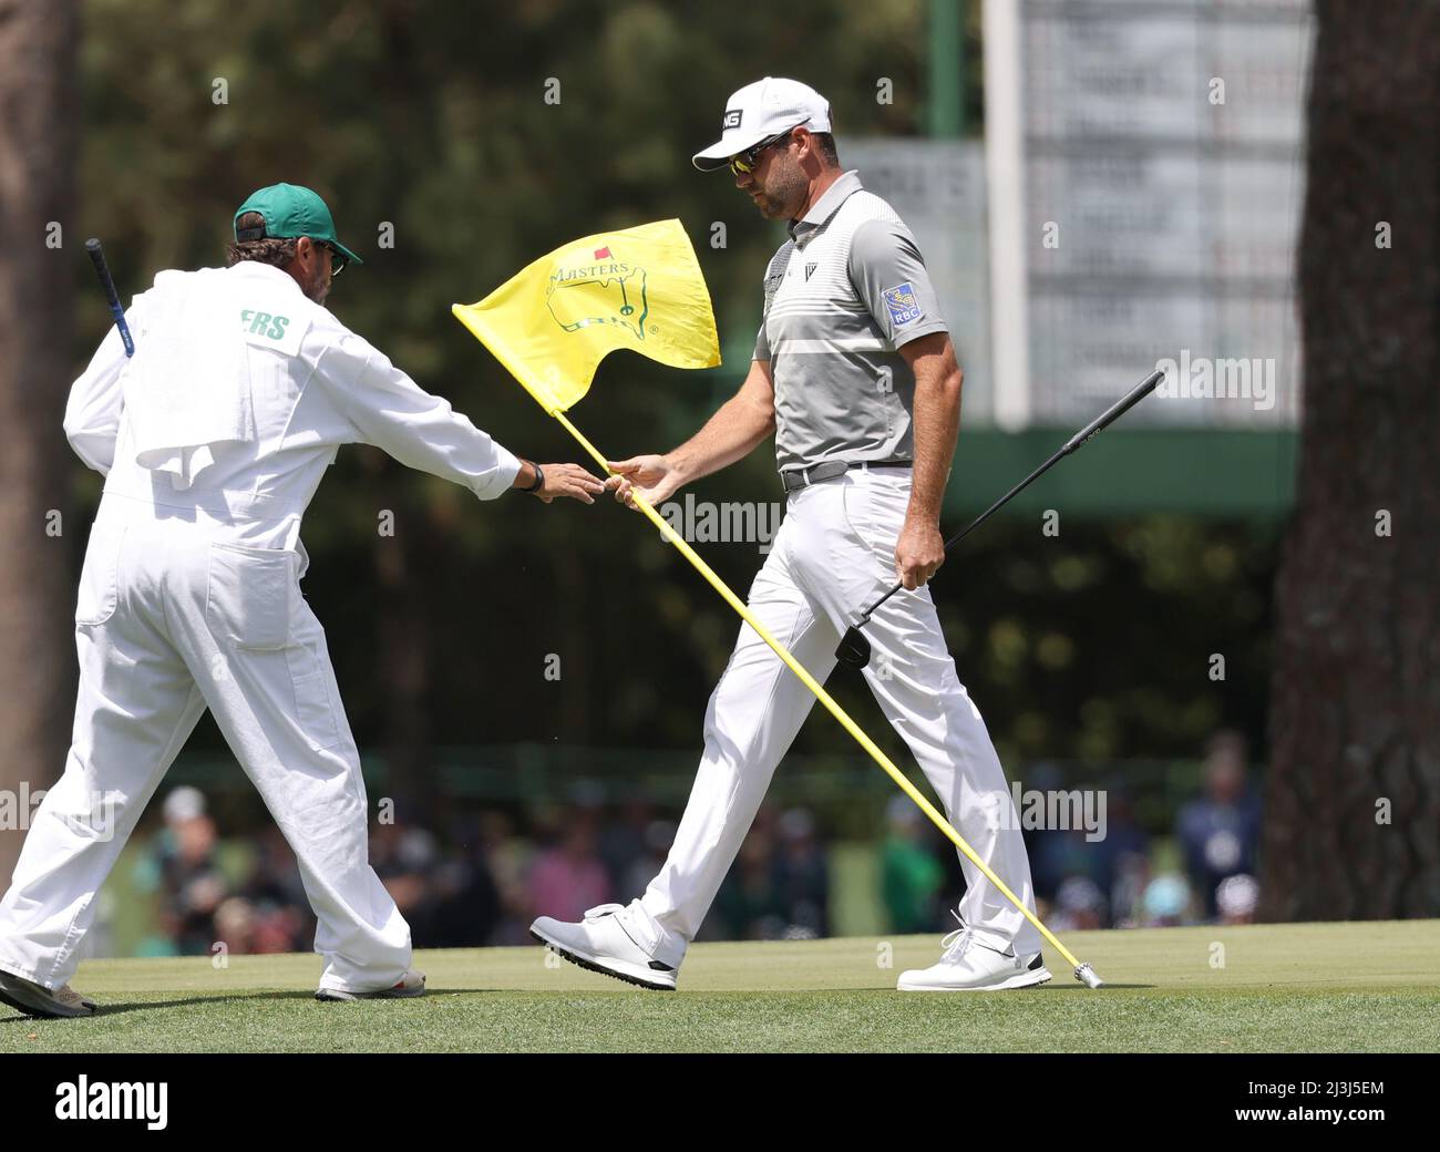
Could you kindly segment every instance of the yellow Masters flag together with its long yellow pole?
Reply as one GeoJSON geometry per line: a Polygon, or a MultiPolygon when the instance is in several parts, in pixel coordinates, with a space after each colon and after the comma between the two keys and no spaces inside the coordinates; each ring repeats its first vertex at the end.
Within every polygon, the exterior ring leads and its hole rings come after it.
{"type": "MultiPolygon", "coordinates": [[[[564,415],[567,408],[590,390],[600,360],[616,348],[629,348],[681,369],[708,369],[720,363],[710,289],[680,220],[660,220],[585,236],[541,256],[478,304],[452,304],[451,311],[606,472],[611,471],[606,458],[564,415]]],[[[1005,881],[991,871],[945,814],[910,783],[805,665],[770,635],[744,600],[700,559],[670,521],[638,492],[632,498],[635,507],[660,528],[661,536],[755,629],[930,822],[1074,966],[1076,979],[1099,988],[1102,981],[1094,969],[1087,963],[1081,965],[1005,881]]]]}

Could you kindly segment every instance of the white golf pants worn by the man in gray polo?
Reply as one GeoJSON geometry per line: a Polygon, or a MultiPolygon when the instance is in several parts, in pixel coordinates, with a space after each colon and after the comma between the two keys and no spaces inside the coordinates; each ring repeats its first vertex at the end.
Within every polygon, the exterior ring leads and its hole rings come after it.
{"type": "MultiPolygon", "coordinates": [[[[851,469],[792,492],[785,523],[750,588],[750,611],[824,683],[835,645],[896,580],[894,547],[910,471],[851,469]]],[[[979,710],[955,674],[929,589],[897,592],[864,629],[864,677],[976,854],[1034,912],[1030,861],[1014,801],[979,710]]],[[[706,711],[706,750],[670,857],[641,900],[660,930],[657,959],[678,963],[815,697],[749,625],[706,711]]],[[[876,769],[878,772],[878,769],[876,769]]],[[[963,855],[960,916],[975,935],[1020,955],[1040,933],[963,855]]]]}

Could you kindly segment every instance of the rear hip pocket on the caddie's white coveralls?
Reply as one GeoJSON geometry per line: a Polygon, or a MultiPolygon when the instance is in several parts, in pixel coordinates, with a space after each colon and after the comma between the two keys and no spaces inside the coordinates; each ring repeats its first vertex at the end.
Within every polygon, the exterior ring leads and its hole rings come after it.
{"type": "Polygon", "coordinates": [[[255,652],[289,644],[295,553],[210,544],[204,621],[216,639],[255,652]]]}

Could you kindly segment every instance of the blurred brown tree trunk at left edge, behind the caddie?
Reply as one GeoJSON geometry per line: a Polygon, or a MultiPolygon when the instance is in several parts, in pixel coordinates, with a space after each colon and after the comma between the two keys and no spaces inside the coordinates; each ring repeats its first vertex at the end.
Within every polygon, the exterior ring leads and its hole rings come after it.
{"type": "Polygon", "coordinates": [[[60,420],[71,287],[85,264],[73,232],[78,30],[72,0],[0,0],[0,814],[20,816],[0,822],[0,887],[29,824],[24,795],[65,765],[75,685],[79,526],[65,516],[73,456],[60,420]],[[46,246],[52,222],[62,246],[46,246]]]}

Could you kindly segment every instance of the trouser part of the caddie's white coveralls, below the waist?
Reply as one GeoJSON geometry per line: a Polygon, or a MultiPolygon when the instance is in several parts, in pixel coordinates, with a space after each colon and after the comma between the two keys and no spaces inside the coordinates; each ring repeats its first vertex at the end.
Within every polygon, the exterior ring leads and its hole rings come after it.
{"type": "Polygon", "coordinates": [[[206,708],[300,861],[320,986],[386,988],[409,966],[409,926],[369,864],[360,759],[301,557],[235,539],[102,503],[76,608],[71,752],[0,901],[4,971],[48,988],[75,975],[95,893],[206,708]]]}

